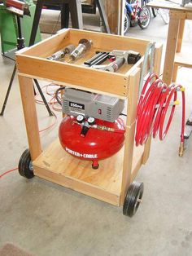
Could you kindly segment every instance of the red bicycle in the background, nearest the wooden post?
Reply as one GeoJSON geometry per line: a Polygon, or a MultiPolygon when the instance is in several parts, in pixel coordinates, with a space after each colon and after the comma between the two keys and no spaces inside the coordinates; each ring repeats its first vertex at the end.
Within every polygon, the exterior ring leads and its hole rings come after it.
{"type": "Polygon", "coordinates": [[[139,25],[141,29],[146,29],[151,21],[151,12],[149,7],[142,6],[139,0],[129,3],[133,10],[133,16],[130,11],[124,7],[124,33],[129,31],[129,28],[139,25]]]}

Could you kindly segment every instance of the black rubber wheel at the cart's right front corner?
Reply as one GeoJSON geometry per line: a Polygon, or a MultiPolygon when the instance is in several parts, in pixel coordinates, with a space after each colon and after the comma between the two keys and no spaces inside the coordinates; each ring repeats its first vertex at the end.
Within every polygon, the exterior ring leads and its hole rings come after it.
{"type": "Polygon", "coordinates": [[[123,214],[133,217],[142,200],[144,185],[137,181],[129,186],[127,195],[124,198],[123,214]]]}

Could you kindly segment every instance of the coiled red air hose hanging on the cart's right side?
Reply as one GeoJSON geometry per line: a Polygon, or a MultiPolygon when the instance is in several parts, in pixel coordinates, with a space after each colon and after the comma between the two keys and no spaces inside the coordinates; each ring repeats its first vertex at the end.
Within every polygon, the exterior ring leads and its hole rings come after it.
{"type": "Polygon", "coordinates": [[[175,112],[176,104],[170,106],[171,100],[177,101],[177,91],[182,94],[182,121],[181,121],[181,143],[184,142],[185,130],[185,91],[181,85],[171,84],[167,86],[155,73],[152,73],[142,87],[137,106],[137,128],[135,141],[136,145],[146,143],[150,135],[153,138],[159,132],[159,139],[163,140],[168,133],[175,112]],[[171,108],[167,124],[164,128],[165,117],[171,108]]]}

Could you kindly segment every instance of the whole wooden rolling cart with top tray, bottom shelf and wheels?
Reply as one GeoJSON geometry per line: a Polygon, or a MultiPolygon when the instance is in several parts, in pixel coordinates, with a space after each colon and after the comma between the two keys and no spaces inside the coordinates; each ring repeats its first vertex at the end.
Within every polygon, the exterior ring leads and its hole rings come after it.
{"type": "MultiPolygon", "coordinates": [[[[145,146],[134,146],[137,113],[138,85],[140,81],[143,55],[148,41],[125,38],[104,33],[76,29],[62,30],[35,46],[25,48],[16,55],[20,93],[24,108],[24,119],[28,135],[29,150],[20,158],[19,171],[26,178],[33,174],[42,179],[72,188],[77,192],[93,196],[112,205],[123,205],[127,192],[132,189],[132,205],[125,203],[124,214],[133,215],[142,197],[142,183],[135,183],[137,171],[145,164],[150,152],[150,139],[145,146]],[[83,58],[74,64],[47,60],[56,51],[68,44],[78,45],[81,38],[91,39],[93,46],[83,58]],[[137,64],[124,64],[117,73],[110,73],[83,66],[83,62],[95,55],[95,51],[133,50],[142,55],[137,64]],[[124,147],[116,155],[99,161],[98,170],[93,170],[90,161],[72,157],[63,150],[58,134],[55,141],[42,151],[39,137],[37,112],[34,100],[33,78],[55,82],[81,90],[89,90],[103,95],[113,95],[127,101],[124,147]],[[33,163],[33,166],[31,165],[33,163]],[[128,189],[129,188],[129,189],[128,189]],[[134,200],[133,200],[134,199],[134,200]],[[134,204],[133,204],[134,201],[134,204]],[[128,207],[128,211],[126,211],[128,207]],[[130,211],[131,207],[131,211],[130,211]]],[[[159,73],[162,46],[155,45],[154,72],[159,73]]],[[[146,73],[149,71],[149,61],[146,73]]],[[[130,200],[130,198],[129,198],[130,200]]]]}

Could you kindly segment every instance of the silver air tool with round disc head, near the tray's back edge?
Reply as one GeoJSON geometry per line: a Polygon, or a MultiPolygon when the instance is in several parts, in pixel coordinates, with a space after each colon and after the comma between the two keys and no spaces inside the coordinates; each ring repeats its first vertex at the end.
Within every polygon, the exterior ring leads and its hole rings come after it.
{"type": "Polygon", "coordinates": [[[85,38],[81,39],[79,41],[79,45],[70,54],[69,56],[70,61],[76,60],[76,58],[80,57],[85,51],[88,51],[91,48],[92,44],[93,42],[90,39],[85,39],[85,38]]]}

